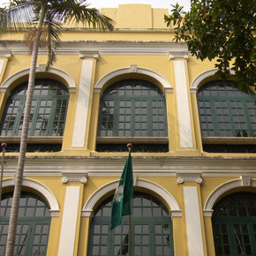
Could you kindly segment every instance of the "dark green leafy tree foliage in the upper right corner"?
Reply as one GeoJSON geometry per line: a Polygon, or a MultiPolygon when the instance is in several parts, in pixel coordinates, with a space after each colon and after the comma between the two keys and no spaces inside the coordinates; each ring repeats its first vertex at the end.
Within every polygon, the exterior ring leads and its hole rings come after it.
{"type": "Polygon", "coordinates": [[[176,41],[184,41],[192,56],[216,60],[222,79],[235,72],[238,86],[255,87],[256,0],[192,0],[191,11],[171,5],[167,26],[175,27],[176,41]]]}

